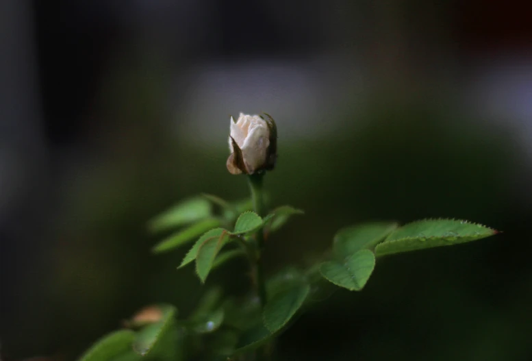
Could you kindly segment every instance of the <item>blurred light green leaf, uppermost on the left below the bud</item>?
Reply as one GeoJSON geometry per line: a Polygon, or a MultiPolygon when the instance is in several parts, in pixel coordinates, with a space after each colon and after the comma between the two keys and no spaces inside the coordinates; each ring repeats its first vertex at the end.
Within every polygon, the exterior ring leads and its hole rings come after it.
{"type": "Polygon", "coordinates": [[[211,204],[203,197],[193,197],[177,203],[148,222],[150,232],[161,232],[199,221],[211,215],[211,204]]]}

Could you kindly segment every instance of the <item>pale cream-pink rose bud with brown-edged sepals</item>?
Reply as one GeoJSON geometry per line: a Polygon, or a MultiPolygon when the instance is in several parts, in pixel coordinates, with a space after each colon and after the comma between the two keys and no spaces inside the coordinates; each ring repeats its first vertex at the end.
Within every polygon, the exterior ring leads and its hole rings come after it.
{"type": "Polygon", "coordinates": [[[253,174],[270,171],[277,159],[277,126],[273,118],[240,113],[238,121],[231,116],[227,170],[231,174],[253,174]]]}

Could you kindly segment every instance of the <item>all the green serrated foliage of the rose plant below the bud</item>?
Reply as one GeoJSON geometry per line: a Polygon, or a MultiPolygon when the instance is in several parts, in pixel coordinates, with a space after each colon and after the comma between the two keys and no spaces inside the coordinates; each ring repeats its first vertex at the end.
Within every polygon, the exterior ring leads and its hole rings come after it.
{"type": "MultiPolygon", "coordinates": [[[[129,326],[140,328],[138,332],[124,330],[106,336],[81,361],[179,361],[187,348],[194,359],[225,360],[227,356],[251,351],[255,352],[253,357],[261,358],[262,348],[275,342],[301,314],[303,306],[323,298],[324,288],[329,292],[333,284],[362,290],[375,268],[375,256],[454,245],[496,234],[494,229],[482,225],[447,219],[417,221],[403,227],[393,222],[353,225],[336,232],[331,253],[320,262],[307,269],[288,266],[264,281],[257,271],[263,236],[303,211],[281,206],[261,218],[251,211],[251,205],[250,199],[231,203],[203,194],[178,203],[153,219],[149,227],[160,232],[185,226],[153,247],[153,253],[170,251],[196,239],[178,268],[195,260],[202,283],[216,267],[246,256],[254,272],[254,292],[227,298],[221,288],[211,288],[190,316],[182,320],[177,319],[176,308],[161,306],[160,319],[136,319],[140,323],[131,322],[129,326]],[[216,206],[215,211],[212,206],[216,206]],[[223,251],[228,243],[233,248],[223,251]],[[257,291],[256,283],[260,282],[264,282],[262,290],[266,292],[257,291]],[[259,300],[257,295],[264,293],[266,297],[259,300]]],[[[262,206],[257,208],[261,208],[261,214],[264,212],[262,206]]]]}

